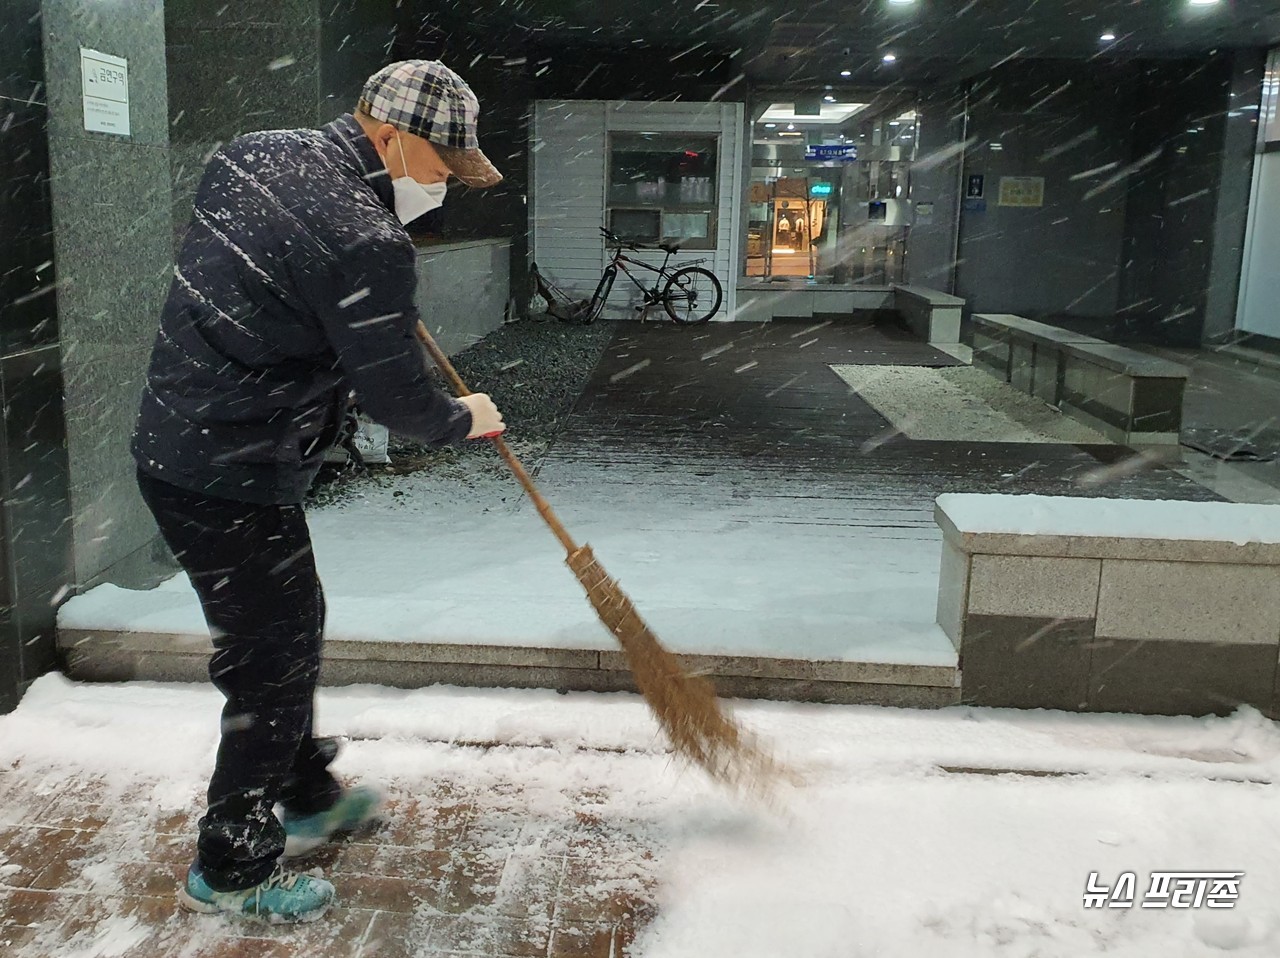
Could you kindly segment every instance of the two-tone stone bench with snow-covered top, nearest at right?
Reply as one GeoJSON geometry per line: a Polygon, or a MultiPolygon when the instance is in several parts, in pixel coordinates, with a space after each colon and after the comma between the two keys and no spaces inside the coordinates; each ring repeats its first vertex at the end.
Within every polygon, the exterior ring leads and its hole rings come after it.
{"type": "Polygon", "coordinates": [[[1280,506],[948,494],[936,519],[961,702],[1280,704],[1280,506]]]}

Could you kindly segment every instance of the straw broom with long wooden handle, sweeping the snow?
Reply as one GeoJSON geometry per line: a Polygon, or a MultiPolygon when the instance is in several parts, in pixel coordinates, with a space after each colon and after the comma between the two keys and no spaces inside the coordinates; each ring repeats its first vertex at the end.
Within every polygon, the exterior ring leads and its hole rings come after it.
{"type": "MultiPolygon", "coordinates": [[[[421,320],[417,323],[417,338],[458,396],[468,396],[471,391],[421,320]]],[[[701,676],[687,675],[676,657],[663,648],[631,605],[631,599],[604,571],[591,547],[579,546],[568,534],[503,438],[489,438],[564,547],[566,564],[586,590],[600,621],[622,645],[636,688],[645,697],[677,754],[701,766],[717,781],[746,790],[769,790],[772,780],[781,772],[773,758],[721,711],[712,684],[701,676]]]]}

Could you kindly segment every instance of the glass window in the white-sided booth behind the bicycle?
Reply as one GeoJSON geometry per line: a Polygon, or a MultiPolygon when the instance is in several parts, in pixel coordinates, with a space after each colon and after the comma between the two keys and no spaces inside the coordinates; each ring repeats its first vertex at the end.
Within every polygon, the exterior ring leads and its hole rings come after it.
{"type": "Polygon", "coordinates": [[[717,137],[614,133],[609,138],[609,228],[626,240],[716,246],[717,137]]]}

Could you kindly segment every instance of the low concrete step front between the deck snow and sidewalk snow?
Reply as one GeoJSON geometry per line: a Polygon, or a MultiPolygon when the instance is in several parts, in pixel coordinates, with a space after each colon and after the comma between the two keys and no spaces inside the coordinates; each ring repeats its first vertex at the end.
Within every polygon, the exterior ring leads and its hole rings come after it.
{"type": "MultiPolygon", "coordinates": [[[[206,681],[207,634],[63,629],[58,645],[82,681],[206,681]]],[[[680,656],[727,698],[937,708],[960,701],[954,666],[832,662],[773,656],[680,656]]],[[[323,685],[413,689],[447,684],[635,692],[621,651],[419,642],[326,640],[323,685]]]]}

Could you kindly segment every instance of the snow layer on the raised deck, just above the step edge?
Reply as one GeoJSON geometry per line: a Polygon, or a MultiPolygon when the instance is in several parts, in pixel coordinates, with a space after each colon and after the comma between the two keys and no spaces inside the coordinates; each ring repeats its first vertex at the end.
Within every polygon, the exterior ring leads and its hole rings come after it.
{"type": "MultiPolygon", "coordinates": [[[[573,469],[544,474],[552,506],[673,649],[955,665],[934,624],[941,537],[927,516],[877,534],[849,520],[856,502],[809,497],[803,516],[780,517],[787,499],[767,488],[691,501],[645,474],[618,496],[618,470],[602,489],[573,469]]],[[[308,523],[330,639],[613,648],[515,480],[472,457],[308,523]]],[[[101,585],[67,602],[59,626],[205,634],[186,576],[101,585]]]]}

